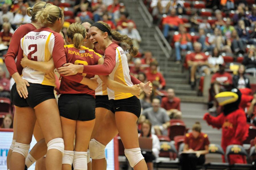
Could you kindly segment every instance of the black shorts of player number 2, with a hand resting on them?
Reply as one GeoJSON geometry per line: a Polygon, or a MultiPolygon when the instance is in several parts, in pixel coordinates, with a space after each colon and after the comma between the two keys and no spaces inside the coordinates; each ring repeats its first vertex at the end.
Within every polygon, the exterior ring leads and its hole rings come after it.
{"type": "Polygon", "coordinates": [[[38,104],[52,99],[55,99],[53,86],[29,83],[30,86],[27,86],[28,89],[28,98],[24,99],[20,97],[16,89],[16,83],[14,83],[11,89],[11,101],[17,107],[31,107],[34,108],[38,104]]]}

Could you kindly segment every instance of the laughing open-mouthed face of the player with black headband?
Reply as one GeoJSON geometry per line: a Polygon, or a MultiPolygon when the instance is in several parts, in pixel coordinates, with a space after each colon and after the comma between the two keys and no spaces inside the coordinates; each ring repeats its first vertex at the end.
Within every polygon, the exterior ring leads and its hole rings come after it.
{"type": "Polygon", "coordinates": [[[105,38],[107,37],[107,33],[103,33],[97,27],[90,27],[89,32],[90,34],[90,42],[94,45],[97,50],[104,50],[105,51],[105,38]]]}

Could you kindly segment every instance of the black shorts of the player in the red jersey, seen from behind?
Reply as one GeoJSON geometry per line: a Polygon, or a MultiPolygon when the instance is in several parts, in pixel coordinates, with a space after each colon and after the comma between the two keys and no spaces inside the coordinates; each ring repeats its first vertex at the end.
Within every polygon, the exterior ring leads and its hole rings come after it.
{"type": "Polygon", "coordinates": [[[71,120],[95,119],[95,98],[87,94],[63,94],[58,99],[59,114],[71,120]]]}

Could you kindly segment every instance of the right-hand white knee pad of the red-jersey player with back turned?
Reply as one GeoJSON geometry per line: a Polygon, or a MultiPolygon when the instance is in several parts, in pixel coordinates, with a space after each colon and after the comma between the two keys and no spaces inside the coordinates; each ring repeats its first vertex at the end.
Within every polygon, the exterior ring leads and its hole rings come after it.
{"type": "Polygon", "coordinates": [[[87,170],[87,152],[74,151],[74,170],[87,170]]]}

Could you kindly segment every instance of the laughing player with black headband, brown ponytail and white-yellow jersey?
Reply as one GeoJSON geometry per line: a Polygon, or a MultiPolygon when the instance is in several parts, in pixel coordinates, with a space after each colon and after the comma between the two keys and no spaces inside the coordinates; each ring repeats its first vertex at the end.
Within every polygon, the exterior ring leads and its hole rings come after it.
{"type": "MultiPolygon", "coordinates": [[[[59,72],[64,75],[71,75],[74,72],[110,75],[111,79],[123,83],[127,86],[132,86],[129,76],[129,67],[127,57],[118,45],[111,40],[121,41],[129,44],[131,48],[129,53],[135,56],[138,49],[133,47],[132,41],[127,35],[121,35],[118,32],[111,32],[111,28],[104,22],[96,22],[89,29],[90,41],[97,50],[104,51],[104,64],[95,66],[74,66],[66,64],[65,67],[59,68],[59,72]]],[[[106,76],[100,76],[102,81],[106,82],[106,76]]],[[[109,99],[114,99],[112,104],[112,112],[115,116],[105,117],[106,122],[111,122],[113,129],[109,129],[107,124],[102,124],[98,129],[97,136],[90,141],[90,156],[94,159],[105,159],[104,149],[106,145],[117,134],[117,130],[125,147],[125,156],[129,160],[131,167],[136,169],[147,169],[146,162],[141,154],[138,141],[137,119],[141,112],[139,99],[129,93],[118,93],[107,89],[109,99]],[[132,107],[131,107],[132,106],[132,107]]],[[[98,166],[97,166],[98,167],[98,166]]],[[[101,168],[105,168],[104,165],[101,168]]],[[[94,163],[92,161],[92,169],[94,163]]]]}

